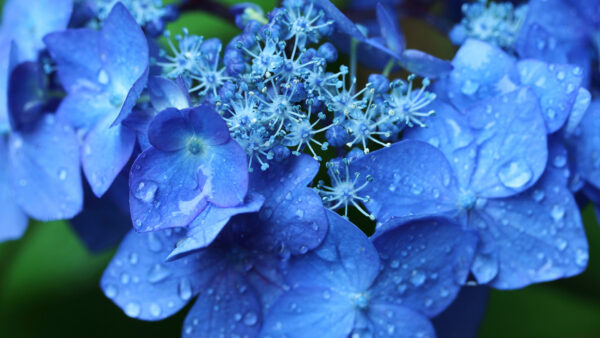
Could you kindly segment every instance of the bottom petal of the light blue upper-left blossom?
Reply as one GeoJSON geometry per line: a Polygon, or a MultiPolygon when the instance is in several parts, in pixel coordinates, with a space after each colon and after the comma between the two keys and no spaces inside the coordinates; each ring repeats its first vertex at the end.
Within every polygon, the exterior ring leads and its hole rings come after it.
{"type": "Polygon", "coordinates": [[[111,122],[105,118],[98,123],[82,144],[83,172],[98,197],[108,190],[135,146],[135,132],[121,125],[111,127],[111,122]]]}

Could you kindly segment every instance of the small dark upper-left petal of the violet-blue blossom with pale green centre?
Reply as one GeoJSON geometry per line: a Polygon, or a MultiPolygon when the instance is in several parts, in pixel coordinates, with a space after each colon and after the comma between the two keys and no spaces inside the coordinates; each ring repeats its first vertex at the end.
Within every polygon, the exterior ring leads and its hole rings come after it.
{"type": "Polygon", "coordinates": [[[194,130],[183,111],[167,108],[152,119],[148,126],[148,141],[156,149],[175,151],[183,149],[194,130]]]}

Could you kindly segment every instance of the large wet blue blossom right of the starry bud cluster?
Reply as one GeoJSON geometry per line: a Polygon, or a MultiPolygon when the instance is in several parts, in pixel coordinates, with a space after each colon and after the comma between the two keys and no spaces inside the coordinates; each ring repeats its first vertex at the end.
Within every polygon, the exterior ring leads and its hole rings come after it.
{"type": "Polygon", "coordinates": [[[483,101],[466,115],[450,106],[436,110],[429,128],[409,130],[413,140],[353,162],[351,170],[373,176],[367,208],[380,221],[449,215],[477,230],[471,271],[479,283],[510,289],[581,272],[587,242],[562,172],[566,161],[546,169],[546,132],[533,91],[483,101]],[[410,161],[382,170],[399,157],[410,161]]]}

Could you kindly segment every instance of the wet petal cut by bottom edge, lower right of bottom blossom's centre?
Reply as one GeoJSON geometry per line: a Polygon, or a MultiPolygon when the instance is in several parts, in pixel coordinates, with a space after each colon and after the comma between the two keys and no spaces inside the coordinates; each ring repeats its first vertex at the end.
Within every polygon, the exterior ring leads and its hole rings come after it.
{"type": "Polygon", "coordinates": [[[409,307],[374,301],[367,316],[374,337],[435,337],[429,319],[409,307]]]}

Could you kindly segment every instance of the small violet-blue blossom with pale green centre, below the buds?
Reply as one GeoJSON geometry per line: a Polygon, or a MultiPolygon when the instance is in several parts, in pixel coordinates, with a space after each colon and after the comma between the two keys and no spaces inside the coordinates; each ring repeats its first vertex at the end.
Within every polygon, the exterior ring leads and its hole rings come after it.
{"type": "Polygon", "coordinates": [[[208,204],[233,207],[248,187],[244,150],[210,105],[160,112],[148,127],[151,148],[130,174],[134,227],[150,231],[190,224],[208,204]]]}

